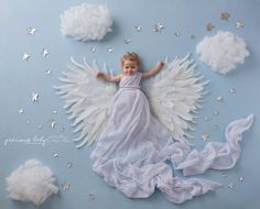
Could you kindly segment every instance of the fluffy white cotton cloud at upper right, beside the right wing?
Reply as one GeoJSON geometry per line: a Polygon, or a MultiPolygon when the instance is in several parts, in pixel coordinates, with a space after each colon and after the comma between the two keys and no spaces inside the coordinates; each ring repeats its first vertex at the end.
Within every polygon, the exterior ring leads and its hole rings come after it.
{"type": "Polygon", "coordinates": [[[227,74],[236,68],[238,63],[243,64],[249,55],[246,42],[228,31],[218,31],[216,35],[205,36],[197,44],[196,52],[201,61],[208,64],[213,70],[227,74]]]}

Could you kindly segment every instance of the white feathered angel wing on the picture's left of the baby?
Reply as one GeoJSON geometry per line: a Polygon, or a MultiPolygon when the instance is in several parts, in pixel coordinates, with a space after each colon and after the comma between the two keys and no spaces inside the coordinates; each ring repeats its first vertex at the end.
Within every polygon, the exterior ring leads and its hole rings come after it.
{"type": "MultiPolygon", "coordinates": [[[[59,78],[63,85],[54,88],[65,101],[64,108],[69,114],[68,119],[74,119],[74,132],[80,132],[80,136],[74,141],[79,143],[76,147],[82,147],[85,144],[90,145],[102,132],[107,121],[107,109],[117,86],[95,77],[95,74],[100,72],[96,62],[90,66],[86,59],[83,65],[73,58],[71,61],[68,70],[63,72],[64,77],[59,78]]],[[[106,65],[102,72],[112,74],[106,65]]]]}

